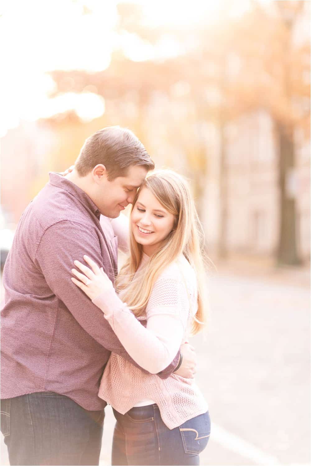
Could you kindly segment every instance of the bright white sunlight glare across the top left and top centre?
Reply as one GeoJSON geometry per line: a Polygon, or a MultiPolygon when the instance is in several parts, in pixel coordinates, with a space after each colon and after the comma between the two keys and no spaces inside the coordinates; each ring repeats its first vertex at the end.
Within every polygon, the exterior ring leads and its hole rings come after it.
{"type": "Polygon", "coordinates": [[[220,5],[199,0],[193,0],[190,6],[177,0],[131,2],[141,4],[145,25],[166,29],[155,45],[135,34],[117,34],[117,0],[3,1],[0,41],[6,47],[2,50],[0,99],[6,114],[0,117],[0,136],[21,120],[35,121],[52,116],[53,111],[57,114],[76,109],[79,117],[86,119],[102,115],[104,99],[94,92],[48,99],[55,86],[48,72],[102,71],[109,67],[116,46],[132,61],[177,56],[185,44],[174,39],[170,27],[182,31],[199,22],[207,24],[217,18],[220,5]]]}

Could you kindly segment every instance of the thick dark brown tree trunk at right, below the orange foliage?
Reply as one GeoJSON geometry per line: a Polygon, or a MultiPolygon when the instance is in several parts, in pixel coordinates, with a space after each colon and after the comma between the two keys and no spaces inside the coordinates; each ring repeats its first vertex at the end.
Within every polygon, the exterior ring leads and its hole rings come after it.
{"type": "Polygon", "coordinates": [[[277,124],[279,140],[280,225],[277,264],[299,265],[297,253],[297,181],[294,171],[294,141],[292,128],[277,124]]]}

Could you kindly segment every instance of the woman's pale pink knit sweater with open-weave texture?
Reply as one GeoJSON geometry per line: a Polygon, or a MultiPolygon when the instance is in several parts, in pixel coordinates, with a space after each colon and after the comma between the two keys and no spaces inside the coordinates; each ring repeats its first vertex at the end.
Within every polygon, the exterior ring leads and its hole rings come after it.
{"type": "MultiPolygon", "coordinates": [[[[136,274],[142,272],[149,257],[144,254],[136,274]]],[[[93,300],[105,315],[126,351],[140,367],[111,353],[101,380],[98,396],[125,414],[141,400],[151,399],[159,406],[169,429],[208,410],[194,379],[172,374],[160,379],[156,373],[176,356],[189,336],[197,311],[197,286],[194,269],[184,256],[170,264],[154,284],[145,308],[144,327],[126,303],[111,288],[93,300]]]]}

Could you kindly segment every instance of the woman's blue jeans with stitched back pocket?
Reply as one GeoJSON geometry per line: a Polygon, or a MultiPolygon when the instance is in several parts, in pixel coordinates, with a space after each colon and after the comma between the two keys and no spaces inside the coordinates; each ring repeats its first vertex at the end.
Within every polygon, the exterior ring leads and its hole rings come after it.
{"type": "Polygon", "coordinates": [[[207,445],[211,421],[208,411],[170,430],[157,404],[132,408],[117,419],[112,465],[199,465],[207,445]]]}

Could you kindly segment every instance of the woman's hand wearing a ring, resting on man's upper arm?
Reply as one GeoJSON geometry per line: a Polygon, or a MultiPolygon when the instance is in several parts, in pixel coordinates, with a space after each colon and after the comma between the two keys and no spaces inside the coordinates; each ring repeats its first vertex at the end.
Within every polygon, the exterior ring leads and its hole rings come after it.
{"type": "Polygon", "coordinates": [[[74,261],[75,266],[82,272],[78,272],[75,268],[71,269],[71,272],[76,275],[76,278],[71,277],[76,286],[81,288],[92,301],[104,291],[114,290],[112,282],[104,273],[103,267],[99,268],[94,260],[86,255],[83,256],[83,259],[91,269],[78,260],[74,261]]]}

